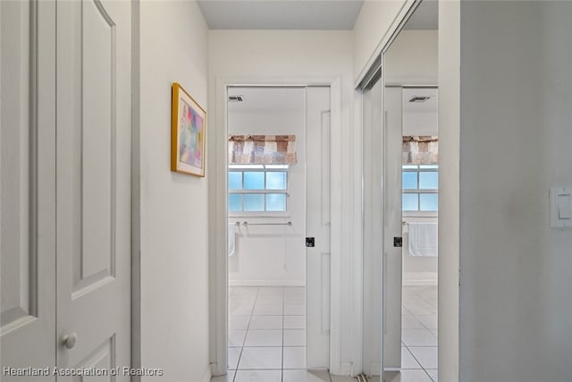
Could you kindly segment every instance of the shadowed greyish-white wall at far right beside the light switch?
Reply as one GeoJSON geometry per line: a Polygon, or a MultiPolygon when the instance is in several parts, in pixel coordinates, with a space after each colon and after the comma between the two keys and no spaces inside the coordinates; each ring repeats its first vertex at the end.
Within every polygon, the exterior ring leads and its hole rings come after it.
{"type": "Polygon", "coordinates": [[[569,380],[572,232],[548,190],[572,185],[572,4],[460,12],[460,380],[569,380]]]}

